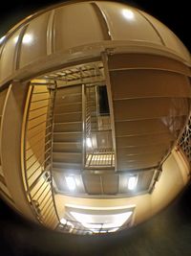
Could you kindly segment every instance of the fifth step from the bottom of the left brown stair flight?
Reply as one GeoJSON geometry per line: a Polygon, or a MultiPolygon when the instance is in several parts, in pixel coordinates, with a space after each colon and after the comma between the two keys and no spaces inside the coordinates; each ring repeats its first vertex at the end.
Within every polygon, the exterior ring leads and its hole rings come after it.
{"type": "Polygon", "coordinates": [[[54,132],[82,131],[82,123],[81,122],[54,123],[53,131],[54,132]]]}

